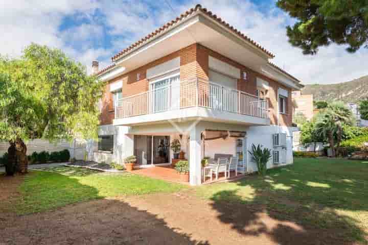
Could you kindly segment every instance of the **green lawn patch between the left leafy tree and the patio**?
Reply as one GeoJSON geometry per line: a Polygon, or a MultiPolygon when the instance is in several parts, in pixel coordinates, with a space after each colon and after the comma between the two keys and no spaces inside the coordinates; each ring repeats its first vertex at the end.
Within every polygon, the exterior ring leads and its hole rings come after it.
{"type": "Polygon", "coordinates": [[[26,176],[19,187],[21,198],[14,205],[15,212],[26,214],[105,197],[174,192],[186,188],[129,173],[101,173],[64,166],[47,170],[32,171],[26,176]]]}

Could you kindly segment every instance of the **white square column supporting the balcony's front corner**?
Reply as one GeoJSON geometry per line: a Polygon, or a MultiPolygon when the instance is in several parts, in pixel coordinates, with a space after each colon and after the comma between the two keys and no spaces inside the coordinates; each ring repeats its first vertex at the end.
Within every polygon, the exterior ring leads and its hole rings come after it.
{"type": "Polygon", "coordinates": [[[191,185],[201,184],[201,136],[200,130],[193,127],[189,142],[189,182],[191,185]]]}

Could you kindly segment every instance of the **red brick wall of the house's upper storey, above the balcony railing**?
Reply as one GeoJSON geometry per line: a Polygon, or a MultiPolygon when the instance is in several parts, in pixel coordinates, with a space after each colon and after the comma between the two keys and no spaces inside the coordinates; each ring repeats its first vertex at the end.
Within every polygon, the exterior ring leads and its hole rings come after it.
{"type": "MultiPolygon", "coordinates": [[[[291,126],[292,116],[292,104],[291,104],[291,89],[287,88],[280,83],[269,79],[258,72],[249,69],[227,57],[224,57],[207,47],[200,44],[192,44],[188,47],[183,48],[177,52],[174,52],[168,56],[157,59],[145,66],[137,68],[128,72],[121,77],[113,79],[110,81],[123,81],[123,96],[129,96],[136,93],[141,93],[148,90],[148,80],[146,79],[147,69],[154,67],[156,65],[162,64],[166,61],[172,60],[176,57],[180,57],[180,80],[185,81],[191,78],[201,78],[204,80],[209,79],[209,56],[226,62],[232,66],[235,66],[241,70],[241,77],[243,76],[243,71],[247,73],[247,80],[238,80],[238,89],[250,94],[256,94],[257,89],[257,77],[267,81],[270,86],[268,91],[269,97],[269,108],[270,108],[270,121],[272,125],[278,124],[278,89],[283,88],[289,91],[289,97],[287,101],[287,114],[280,115],[279,125],[281,126],[291,126]],[[139,74],[139,76],[137,76],[139,74]]],[[[114,111],[112,108],[112,94],[110,93],[109,84],[106,85],[106,91],[103,97],[103,107],[101,113],[101,125],[112,124],[112,119],[114,117],[114,111]]]]}

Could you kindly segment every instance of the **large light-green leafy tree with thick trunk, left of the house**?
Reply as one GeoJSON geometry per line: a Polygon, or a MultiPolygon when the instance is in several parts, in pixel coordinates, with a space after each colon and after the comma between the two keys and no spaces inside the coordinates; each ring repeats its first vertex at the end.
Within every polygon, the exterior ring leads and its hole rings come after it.
{"type": "Polygon", "coordinates": [[[103,83],[60,50],[31,44],[21,58],[0,57],[0,140],[8,175],[27,173],[29,139],[96,138],[103,83]]]}

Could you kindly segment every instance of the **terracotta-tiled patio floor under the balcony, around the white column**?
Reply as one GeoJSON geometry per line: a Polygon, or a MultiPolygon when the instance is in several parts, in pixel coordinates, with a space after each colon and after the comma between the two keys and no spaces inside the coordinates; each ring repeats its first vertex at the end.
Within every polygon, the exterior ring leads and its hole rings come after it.
{"type": "MultiPolygon", "coordinates": [[[[189,182],[182,182],[180,180],[180,174],[171,166],[154,166],[154,167],[148,167],[148,168],[134,169],[131,173],[151,177],[154,179],[189,184],[189,182]]],[[[235,171],[231,171],[230,178],[225,178],[224,174],[222,173],[219,175],[219,178],[217,180],[215,178],[215,175],[213,175],[212,181],[210,180],[209,177],[206,177],[205,181],[202,182],[202,184],[232,181],[232,180],[243,178],[244,176],[245,175],[239,175],[239,174],[238,176],[235,176],[235,171]]]]}

